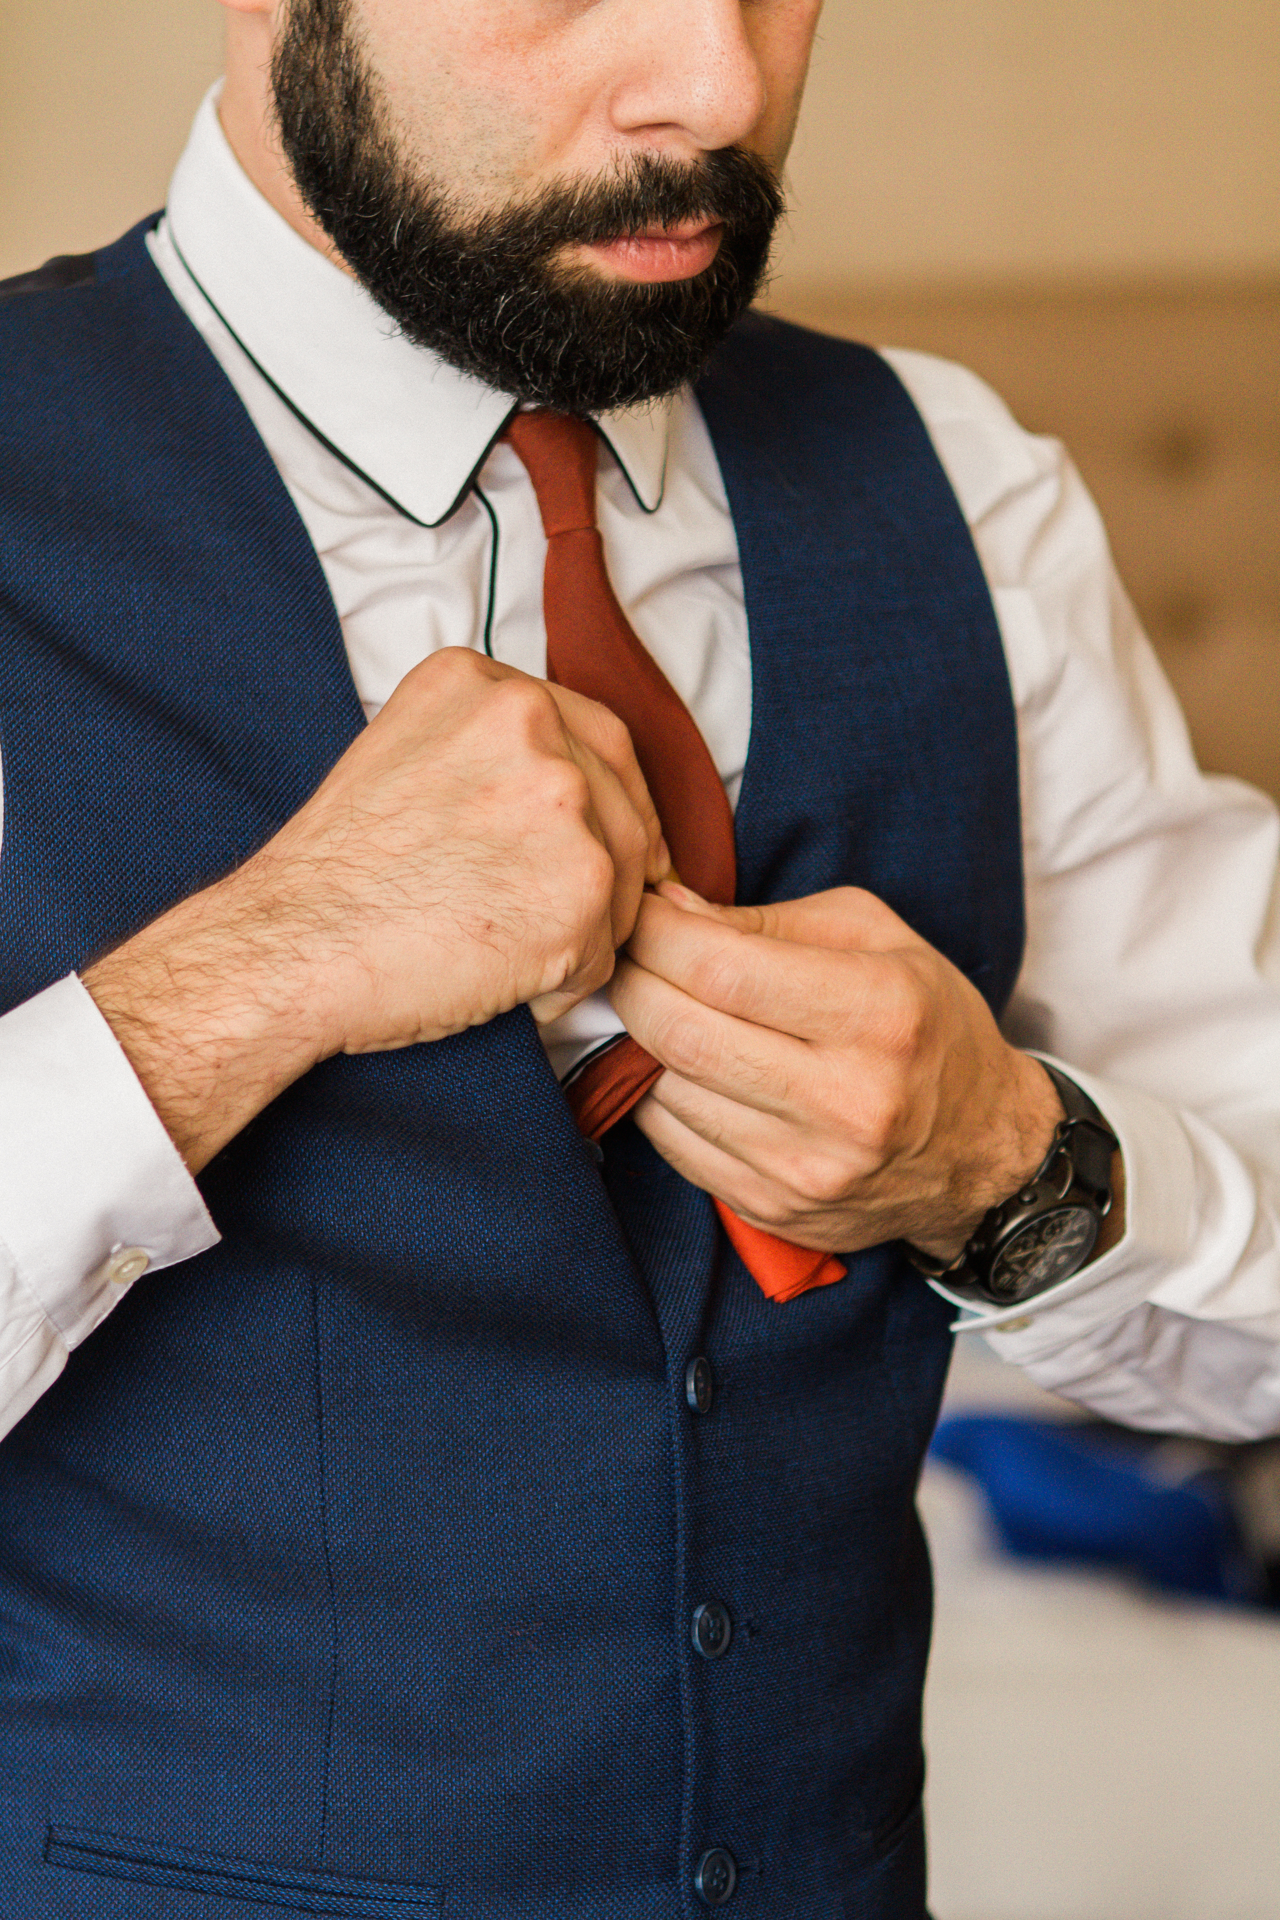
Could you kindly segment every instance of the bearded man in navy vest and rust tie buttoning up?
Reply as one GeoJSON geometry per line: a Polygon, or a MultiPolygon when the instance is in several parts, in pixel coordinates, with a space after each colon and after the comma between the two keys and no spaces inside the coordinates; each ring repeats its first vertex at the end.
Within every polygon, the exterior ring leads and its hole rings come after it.
{"type": "Polygon", "coordinates": [[[958,1306],[1280,1421],[1276,816],[747,313],[819,0],[226,6],[0,301],[4,1912],[919,1920],[958,1306]]]}

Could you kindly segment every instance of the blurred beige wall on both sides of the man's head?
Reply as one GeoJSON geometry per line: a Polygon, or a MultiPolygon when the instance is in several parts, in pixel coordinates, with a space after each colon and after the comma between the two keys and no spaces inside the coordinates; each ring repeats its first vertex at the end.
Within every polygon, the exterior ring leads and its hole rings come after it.
{"type": "MultiPolygon", "coordinates": [[[[157,205],[217,0],[0,0],[0,275],[157,205]]],[[[1280,271],[1276,0],[829,0],[779,284],[1280,271]]]]}

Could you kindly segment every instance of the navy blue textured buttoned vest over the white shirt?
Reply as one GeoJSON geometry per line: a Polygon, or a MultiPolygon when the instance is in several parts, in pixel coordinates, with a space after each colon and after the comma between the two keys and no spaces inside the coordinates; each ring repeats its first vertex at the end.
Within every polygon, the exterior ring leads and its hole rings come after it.
{"type": "MultiPolygon", "coordinates": [[[[1013,710],[929,438],[879,357],[764,319],[700,399],[752,643],[741,897],[871,887],[1000,1008],[1013,710]]],[[[359,726],[142,232],[13,288],[0,1006],[259,847],[359,726]]],[[[221,1246],[0,1448],[0,1912],[674,1920],[723,1847],[729,1912],[919,1920],[948,1311],[900,1254],[770,1306],[633,1127],[597,1167],[524,1010],[328,1062],[203,1190],[221,1246]]]]}

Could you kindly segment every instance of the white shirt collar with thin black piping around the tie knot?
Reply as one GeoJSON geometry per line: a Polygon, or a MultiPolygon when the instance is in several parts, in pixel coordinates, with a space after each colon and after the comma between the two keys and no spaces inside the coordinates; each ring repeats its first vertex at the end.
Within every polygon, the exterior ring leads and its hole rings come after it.
{"type": "MultiPolygon", "coordinates": [[[[169,188],[169,236],[259,372],[320,440],[411,518],[445,520],[514,399],[413,346],[365,288],[259,194],[213,86],[169,188]]],[[[599,415],[647,513],[662,503],[670,401],[599,415]]]]}

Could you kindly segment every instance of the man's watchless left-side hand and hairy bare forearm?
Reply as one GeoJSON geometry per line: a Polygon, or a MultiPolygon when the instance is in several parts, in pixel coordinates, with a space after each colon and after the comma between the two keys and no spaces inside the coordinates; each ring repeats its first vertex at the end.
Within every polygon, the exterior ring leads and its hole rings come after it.
{"type": "Polygon", "coordinates": [[[668,872],[622,722],[453,647],[261,852],[84,985],[198,1169],[317,1060],[568,1010],[668,872]]]}

